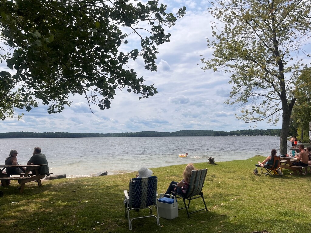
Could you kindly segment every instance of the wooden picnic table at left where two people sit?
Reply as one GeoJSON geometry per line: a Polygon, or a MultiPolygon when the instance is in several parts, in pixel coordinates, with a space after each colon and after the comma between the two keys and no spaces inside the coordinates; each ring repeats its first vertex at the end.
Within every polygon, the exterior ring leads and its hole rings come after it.
{"type": "Polygon", "coordinates": [[[39,169],[42,166],[47,166],[46,164],[40,164],[40,165],[0,165],[0,180],[3,186],[6,186],[6,180],[18,180],[18,183],[21,185],[20,187],[20,193],[22,193],[24,191],[24,187],[25,184],[27,182],[31,182],[31,181],[37,181],[38,186],[41,187],[42,183],[41,183],[41,179],[43,179],[45,177],[45,175],[50,175],[53,173],[49,173],[49,174],[39,174],[39,169]],[[9,167],[19,167],[19,168],[23,168],[26,167],[26,171],[24,173],[21,174],[17,174],[16,176],[10,176],[7,173],[4,172],[5,168],[9,168],[9,167]],[[31,173],[29,173],[31,171],[31,173]],[[20,175],[20,177],[18,177],[18,175],[20,175]]]}

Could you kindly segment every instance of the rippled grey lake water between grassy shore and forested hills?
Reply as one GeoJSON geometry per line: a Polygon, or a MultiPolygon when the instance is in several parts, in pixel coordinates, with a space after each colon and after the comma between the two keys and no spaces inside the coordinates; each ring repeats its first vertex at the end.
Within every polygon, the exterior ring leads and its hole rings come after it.
{"type": "MultiPolygon", "coordinates": [[[[268,156],[279,145],[280,138],[270,136],[0,139],[0,163],[17,149],[17,161],[26,164],[33,148],[40,146],[54,174],[79,177],[108,171],[112,175],[142,166],[208,162],[208,157],[219,162],[268,156]],[[187,158],[178,157],[186,152],[187,158]]],[[[290,142],[287,146],[290,151],[290,142]]]]}

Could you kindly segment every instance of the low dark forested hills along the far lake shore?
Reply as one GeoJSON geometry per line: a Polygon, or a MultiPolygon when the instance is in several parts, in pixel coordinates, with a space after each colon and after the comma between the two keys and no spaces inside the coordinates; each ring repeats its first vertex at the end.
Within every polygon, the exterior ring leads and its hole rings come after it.
{"type": "Polygon", "coordinates": [[[280,136],[281,129],[234,130],[179,130],[176,132],[142,131],[136,133],[64,133],[64,132],[9,132],[0,133],[0,138],[99,138],[99,137],[198,137],[198,136],[280,136]]]}

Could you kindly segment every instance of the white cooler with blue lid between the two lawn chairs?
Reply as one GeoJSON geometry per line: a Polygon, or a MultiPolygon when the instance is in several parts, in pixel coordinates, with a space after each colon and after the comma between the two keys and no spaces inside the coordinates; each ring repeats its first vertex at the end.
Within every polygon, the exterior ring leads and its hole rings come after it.
{"type": "Polygon", "coordinates": [[[159,217],[166,219],[173,219],[178,217],[178,203],[175,196],[161,193],[157,203],[159,217]],[[168,195],[172,198],[163,197],[164,195],[168,195]]]}

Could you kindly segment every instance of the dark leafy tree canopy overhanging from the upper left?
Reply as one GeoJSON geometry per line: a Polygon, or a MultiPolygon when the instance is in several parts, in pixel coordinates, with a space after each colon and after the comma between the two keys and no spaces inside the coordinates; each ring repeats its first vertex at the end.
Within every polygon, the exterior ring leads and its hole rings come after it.
{"type": "Polygon", "coordinates": [[[49,113],[62,112],[74,94],[101,110],[110,108],[116,89],[140,98],[156,94],[126,65],[142,56],[145,68],[156,71],[157,48],[170,37],[164,28],[184,14],[185,7],[167,13],[157,0],[1,1],[0,58],[16,72],[0,72],[0,119],[12,117],[14,108],[30,111],[38,100],[49,113]],[[127,49],[130,34],[141,48],[127,49]]]}

